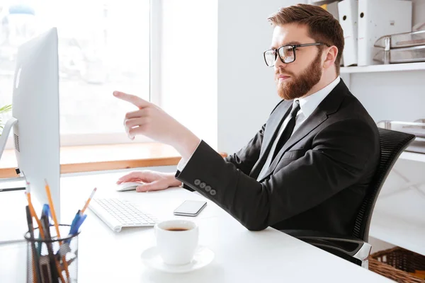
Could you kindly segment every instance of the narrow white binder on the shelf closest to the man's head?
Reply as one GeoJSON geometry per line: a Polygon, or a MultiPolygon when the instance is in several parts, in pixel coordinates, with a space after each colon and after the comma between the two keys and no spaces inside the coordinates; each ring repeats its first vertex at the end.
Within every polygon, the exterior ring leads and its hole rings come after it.
{"type": "Polygon", "coordinates": [[[338,3],[339,24],[344,31],[344,66],[357,64],[357,8],[358,0],[338,3]]]}

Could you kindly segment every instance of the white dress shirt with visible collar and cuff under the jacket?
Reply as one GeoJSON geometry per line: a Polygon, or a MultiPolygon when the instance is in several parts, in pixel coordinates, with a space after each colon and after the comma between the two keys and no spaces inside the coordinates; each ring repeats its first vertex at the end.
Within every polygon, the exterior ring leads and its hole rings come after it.
{"type": "MultiPolygon", "coordinates": [[[[293,133],[300,127],[300,125],[302,125],[302,123],[305,120],[307,120],[308,117],[310,117],[310,115],[312,115],[312,112],[314,112],[314,110],[322,102],[322,100],[324,100],[324,98],[326,98],[327,95],[329,93],[331,93],[331,91],[335,88],[335,86],[339,83],[340,80],[341,80],[341,78],[339,76],[337,76],[334,81],[329,83],[327,86],[322,88],[320,91],[312,93],[310,96],[307,96],[305,98],[298,98],[297,99],[300,102],[300,110],[298,110],[297,117],[295,117],[295,127],[294,127],[294,130],[293,130],[293,133]]],[[[263,169],[261,169],[261,173],[259,174],[259,177],[262,175],[262,173],[264,173],[268,169],[268,166],[270,166],[271,158],[273,158],[274,149],[276,149],[276,145],[278,143],[280,135],[283,133],[283,130],[285,129],[289,120],[290,120],[290,115],[288,115],[288,117],[285,118],[285,121],[283,121],[282,126],[279,129],[278,136],[273,141],[273,146],[271,147],[271,150],[268,154],[266,163],[264,163],[263,169]]],[[[193,151],[193,152],[195,152],[195,151],[193,151]]],[[[193,155],[193,153],[192,153],[192,155],[193,155]]],[[[183,171],[184,167],[186,166],[186,164],[188,163],[188,161],[190,159],[191,158],[189,158],[186,161],[183,158],[181,158],[179,164],[177,164],[177,170],[183,171]]]]}

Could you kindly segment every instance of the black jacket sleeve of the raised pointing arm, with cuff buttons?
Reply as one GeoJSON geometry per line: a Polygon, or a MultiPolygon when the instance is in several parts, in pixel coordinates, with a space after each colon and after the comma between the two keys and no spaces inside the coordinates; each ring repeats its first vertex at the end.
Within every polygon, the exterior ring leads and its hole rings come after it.
{"type": "Polygon", "coordinates": [[[334,122],[316,134],[304,156],[261,183],[202,141],[176,178],[225,209],[247,229],[262,230],[356,183],[375,156],[375,139],[373,129],[362,120],[334,122]]]}

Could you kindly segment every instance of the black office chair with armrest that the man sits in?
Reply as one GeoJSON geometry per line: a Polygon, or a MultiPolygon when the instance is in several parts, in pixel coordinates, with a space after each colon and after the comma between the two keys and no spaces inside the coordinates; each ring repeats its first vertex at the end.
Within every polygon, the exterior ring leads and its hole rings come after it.
{"type": "Polygon", "coordinates": [[[413,134],[404,132],[380,128],[378,130],[380,137],[380,163],[358,211],[352,236],[337,236],[320,231],[283,230],[284,233],[290,236],[361,265],[366,269],[368,268],[368,258],[372,248],[368,243],[368,238],[375,202],[395,161],[415,138],[413,134]]]}

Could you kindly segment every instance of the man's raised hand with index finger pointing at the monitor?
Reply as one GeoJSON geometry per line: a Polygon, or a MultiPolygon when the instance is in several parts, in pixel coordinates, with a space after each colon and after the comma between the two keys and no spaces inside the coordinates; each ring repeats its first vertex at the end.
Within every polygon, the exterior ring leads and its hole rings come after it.
{"type": "Polygon", "coordinates": [[[153,103],[131,94],[114,91],[113,96],[139,108],[125,115],[125,131],[130,139],[137,134],[173,146],[185,159],[192,156],[200,139],[153,103]]]}

